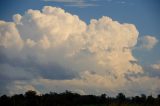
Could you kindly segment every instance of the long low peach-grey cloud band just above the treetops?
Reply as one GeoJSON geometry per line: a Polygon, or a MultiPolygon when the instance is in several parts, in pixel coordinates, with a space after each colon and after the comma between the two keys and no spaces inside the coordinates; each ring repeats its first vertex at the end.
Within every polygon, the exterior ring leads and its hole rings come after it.
{"type": "Polygon", "coordinates": [[[15,81],[10,85],[12,87],[8,87],[8,90],[10,92],[14,91],[14,93],[19,93],[33,89],[37,92],[47,93],[50,91],[64,92],[67,89],[80,94],[100,95],[102,93],[107,93],[107,95],[116,96],[119,92],[123,92],[127,96],[136,96],[141,93],[146,95],[152,93],[153,96],[157,96],[159,93],[158,83],[160,83],[158,77],[131,77],[130,81],[125,79],[113,80],[110,79],[109,76],[104,77],[86,71],[81,75],[81,78],[69,80],[39,78],[31,80],[30,82],[15,81]]]}

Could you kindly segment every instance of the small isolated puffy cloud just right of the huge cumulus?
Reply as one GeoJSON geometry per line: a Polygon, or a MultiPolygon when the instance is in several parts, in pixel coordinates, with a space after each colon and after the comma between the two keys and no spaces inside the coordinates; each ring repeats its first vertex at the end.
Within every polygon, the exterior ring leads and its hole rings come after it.
{"type": "Polygon", "coordinates": [[[144,37],[141,37],[139,39],[139,42],[140,42],[139,45],[140,49],[150,50],[154,48],[154,46],[158,43],[158,39],[154,36],[146,35],[144,37]]]}

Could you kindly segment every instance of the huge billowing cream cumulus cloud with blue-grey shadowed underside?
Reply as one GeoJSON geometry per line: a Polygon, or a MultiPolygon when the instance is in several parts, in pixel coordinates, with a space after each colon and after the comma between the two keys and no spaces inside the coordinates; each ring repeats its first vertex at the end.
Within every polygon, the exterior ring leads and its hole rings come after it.
{"type": "MultiPolygon", "coordinates": [[[[132,54],[138,34],[133,24],[103,16],[87,25],[57,7],[15,14],[13,22],[0,24],[0,76],[12,79],[0,89],[8,94],[68,89],[82,94],[124,91],[132,95],[140,89],[133,85],[147,79],[156,85],[151,91],[157,93],[158,78],[126,79],[126,74],[144,73],[132,54]]],[[[140,85],[148,93],[151,83],[145,81],[140,85]]]]}

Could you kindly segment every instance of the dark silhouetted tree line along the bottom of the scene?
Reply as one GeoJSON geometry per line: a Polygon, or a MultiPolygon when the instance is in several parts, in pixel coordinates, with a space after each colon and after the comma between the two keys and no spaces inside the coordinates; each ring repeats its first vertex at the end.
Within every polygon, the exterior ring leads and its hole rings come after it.
{"type": "Polygon", "coordinates": [[[63,93],[50,92],[37,95],[35,91],[25,94],[0,97],[0,106],[160,106],[160,95],[126,97],[119,93],[116,97],[80,95],[66,91],[63,93]]]}

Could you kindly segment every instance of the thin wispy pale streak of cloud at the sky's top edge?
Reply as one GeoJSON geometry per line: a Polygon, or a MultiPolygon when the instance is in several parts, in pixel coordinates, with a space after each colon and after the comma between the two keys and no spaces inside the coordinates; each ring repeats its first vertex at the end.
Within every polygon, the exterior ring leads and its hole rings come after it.
{"type": "Polygon", "coordinates": [[[96,0],[43,0],[45,2],[60,2],[64,3],[65,6],[73,6],[73,7],[90,7],[90,6],[98,6],[97,4],[93,3],[96,0]]]}

